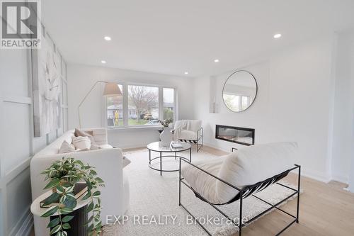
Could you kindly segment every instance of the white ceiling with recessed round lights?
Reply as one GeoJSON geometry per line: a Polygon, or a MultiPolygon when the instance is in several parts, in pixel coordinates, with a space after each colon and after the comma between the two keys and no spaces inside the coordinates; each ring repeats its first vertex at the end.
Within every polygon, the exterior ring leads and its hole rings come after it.
{"type": "Polygon", "coordinates": [[[45,0],[42,15],[68,62],[196,77],[353,28],[354,1],[45,0]]]}

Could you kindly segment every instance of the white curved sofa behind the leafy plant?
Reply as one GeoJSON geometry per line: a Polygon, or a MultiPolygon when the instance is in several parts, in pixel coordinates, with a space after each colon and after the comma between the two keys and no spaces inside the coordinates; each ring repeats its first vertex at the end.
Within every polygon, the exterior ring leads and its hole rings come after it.
{"type": "MultiPolygon", "coordinates": [[[[102,147],[98,150],[89,150],[83,152],[70,152],[59,154],[59,148],[62,142],[72,142],[74,130],[69,130],[57,140],[45,147],[32,158],[30,162],[30,181],[32,186],[32,199],[35,200],[42,193],[46,185],[45,176],[40,174],[44,169],[50,166],[55,160],[62,157],[74,157],[82,162],[89,163],[96,167],[96,172],[103,181],[105,187],[101,189],[102,211],[101,220],[103,225],[106,223],[106,215],[123,215],[129,205],[129,181],[122,169],[122,150],[113,148],[107,142],[107,130],[104,128],[86,129],[93,131],[93,138],[97,145],[102,147]]],[[[35,235],[47,236],[49,229],[48,218],[35,216],[35,235]]]]}

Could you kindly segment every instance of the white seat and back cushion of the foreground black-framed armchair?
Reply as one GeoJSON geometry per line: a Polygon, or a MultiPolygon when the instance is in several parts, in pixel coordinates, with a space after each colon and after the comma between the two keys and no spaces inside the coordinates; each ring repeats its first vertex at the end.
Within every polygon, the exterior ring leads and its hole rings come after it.
{"type": "MultiPolygon", "coordinates": [[[[296,142],[244,147],[227,156],[217,176],[241,189],[291,169],[295,164],[296,153],[296,142]]],[[[222,181],[217,181],[216,187],[219,203],[227,203],[239,193],[222,181]]]]}

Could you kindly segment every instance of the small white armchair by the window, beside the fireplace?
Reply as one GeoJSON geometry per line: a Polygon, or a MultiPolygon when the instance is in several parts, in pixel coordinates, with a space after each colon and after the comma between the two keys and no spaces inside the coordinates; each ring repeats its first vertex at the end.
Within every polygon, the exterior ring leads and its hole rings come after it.
{"type": "Polygon", "coordinates": [[[202,135],[202,120],[176,120],[174,124],[173,140],[197,145],[197,152],[202,147],[202,135]]]}

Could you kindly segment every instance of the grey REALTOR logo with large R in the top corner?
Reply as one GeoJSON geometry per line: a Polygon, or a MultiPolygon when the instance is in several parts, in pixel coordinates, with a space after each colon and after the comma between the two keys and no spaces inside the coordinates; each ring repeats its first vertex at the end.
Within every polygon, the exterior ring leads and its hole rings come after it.
{"type": "Polygon", "coordinates": [[[1,49],[40,48],[40,2],[1,1],[1,49]]]}

